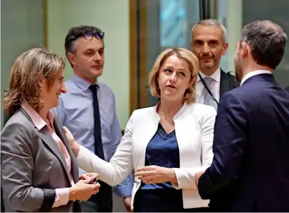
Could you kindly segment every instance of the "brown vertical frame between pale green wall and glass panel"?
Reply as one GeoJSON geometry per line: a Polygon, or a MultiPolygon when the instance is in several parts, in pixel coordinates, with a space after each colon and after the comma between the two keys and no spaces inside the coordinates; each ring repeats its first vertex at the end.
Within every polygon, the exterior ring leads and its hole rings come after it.
{"type": "Polygon", "coordinates": [[[147,107],[147,1],[129,0],[130,111],[147,107]]]}

